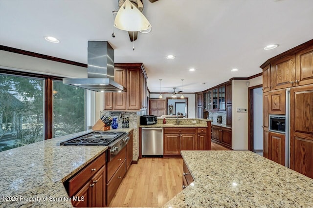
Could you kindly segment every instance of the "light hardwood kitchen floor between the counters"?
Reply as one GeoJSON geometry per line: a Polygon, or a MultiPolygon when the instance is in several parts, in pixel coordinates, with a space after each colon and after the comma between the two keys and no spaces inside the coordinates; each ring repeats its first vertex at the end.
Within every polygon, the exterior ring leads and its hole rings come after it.
{"type": "MultiPolygon", "coordinates": [[[[212,143],[212,150],[229,150],[212,143]]],[[[131,165],[110,207],[160,207],[182,190],[181,158],[142,158],[131,165]]]]}

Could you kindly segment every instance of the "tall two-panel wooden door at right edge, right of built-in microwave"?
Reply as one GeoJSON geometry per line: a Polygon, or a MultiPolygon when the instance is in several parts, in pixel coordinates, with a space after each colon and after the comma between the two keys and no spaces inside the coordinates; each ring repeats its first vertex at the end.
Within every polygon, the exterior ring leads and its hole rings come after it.
{"type": "Polygon", "coordinates": [[[291,169],[313,178],[313,86],[291,88],[291,169]]]}

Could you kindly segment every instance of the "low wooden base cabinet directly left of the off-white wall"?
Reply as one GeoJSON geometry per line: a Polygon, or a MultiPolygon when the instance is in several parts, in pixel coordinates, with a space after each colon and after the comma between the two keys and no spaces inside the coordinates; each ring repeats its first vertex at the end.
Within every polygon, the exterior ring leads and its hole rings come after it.
{"type": "Polygon", "coordinates": [[[222,146],[231,148],[231,128],[212,125],[212,139],[222,146]]]}

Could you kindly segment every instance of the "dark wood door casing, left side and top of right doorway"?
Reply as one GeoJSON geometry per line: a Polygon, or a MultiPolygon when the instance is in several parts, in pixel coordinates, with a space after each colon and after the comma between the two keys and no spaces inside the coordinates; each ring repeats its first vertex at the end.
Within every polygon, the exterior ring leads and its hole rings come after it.
{"type": "MultiPolygon", "coordinates": [[[[262,74],[262,73],[261,73],[262,74]]],[[[253,89],[261,88],[263,85],[259,84],[248,88],[248,150],[253,152],[253,89]]]]}

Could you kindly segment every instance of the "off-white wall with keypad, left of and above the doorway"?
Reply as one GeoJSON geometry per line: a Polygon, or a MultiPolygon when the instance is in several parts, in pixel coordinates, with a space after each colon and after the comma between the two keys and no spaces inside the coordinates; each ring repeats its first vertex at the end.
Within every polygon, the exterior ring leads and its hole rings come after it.
{"type": "Polygon", "coordinates": [[[248,149],[248,112],[236,112],[236,108],[248,109],[248,87],[259,84],[262,84],[262,76],[251,80],[233,80],[231,82],[232,149],[248,149]],[[249,86],[246,86],[246,82],[249,82],[249,86]]]}

